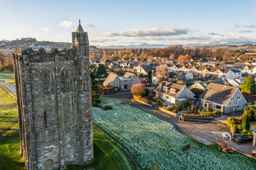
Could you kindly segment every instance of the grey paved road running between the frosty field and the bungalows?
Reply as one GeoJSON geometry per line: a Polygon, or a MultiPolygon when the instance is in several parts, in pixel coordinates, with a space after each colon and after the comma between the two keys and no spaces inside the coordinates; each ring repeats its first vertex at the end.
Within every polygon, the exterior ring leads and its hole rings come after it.
{"type": "Polygon", "coordinates": [[[212,145],[216,143],[218,139],[221,139],[222,133],[228,132],[227,126],[216,120],[193,120],[186,122],[178,121],[172,115],[159,111],[158,109],[150,106],[132,101],[131,99],[133,96],[131,93],[114,94],[104,97],[119,99],[133,107],[161,118],[162,120],[174,125],[175,129],[177,129],[179,132],[203,143],[204,145],[212,145]]]}

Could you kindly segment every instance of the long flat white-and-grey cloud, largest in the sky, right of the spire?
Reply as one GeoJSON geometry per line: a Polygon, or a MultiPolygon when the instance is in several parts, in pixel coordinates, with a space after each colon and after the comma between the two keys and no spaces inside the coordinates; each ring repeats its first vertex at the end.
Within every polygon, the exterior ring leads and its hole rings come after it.
{"type": "Polygon", "coordinates": [[[188,29],[175,29],[175,28],[149,28],[143,30],[124,30],[118,32],[105,32],[103,36],[115,37],[115,36],[125,36],[125,37],[161,37],[161,36],[178,36],[188,34],[188,29]]]}

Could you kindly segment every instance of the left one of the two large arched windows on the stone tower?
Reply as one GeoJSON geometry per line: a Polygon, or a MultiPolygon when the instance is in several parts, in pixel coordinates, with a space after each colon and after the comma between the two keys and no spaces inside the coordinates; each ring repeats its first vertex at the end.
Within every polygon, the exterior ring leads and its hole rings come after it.
{"type": "Polygon", "coordinates": [[[53,75],[51,71],[43,73],[44,93],[54,92],[53,75]]]}

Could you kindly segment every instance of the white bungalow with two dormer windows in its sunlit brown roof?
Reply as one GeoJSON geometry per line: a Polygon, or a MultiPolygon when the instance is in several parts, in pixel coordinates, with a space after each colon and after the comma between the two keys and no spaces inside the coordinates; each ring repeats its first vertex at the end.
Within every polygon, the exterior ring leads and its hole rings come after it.
{"type": "Polygon", "coordinates": [[[154,91],[157,97],[169,101],[171,104],[180,104],[186,100],[191,100],[194,103],[195,99],[195,94],[186,86],[167,81],[161,82],[154,91]]]}

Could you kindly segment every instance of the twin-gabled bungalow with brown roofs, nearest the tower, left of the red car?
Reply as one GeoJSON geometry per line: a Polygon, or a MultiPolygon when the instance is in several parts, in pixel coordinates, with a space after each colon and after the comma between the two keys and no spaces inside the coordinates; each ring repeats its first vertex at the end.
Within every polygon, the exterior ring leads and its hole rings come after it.
{"type": "Polygon", "coordinates": [[[140,84],[139,79],[135,74],[126,72],[124,77],[118,77],[118,75],[110,73],[107,79],[103,82],[103,86],[113,86],[115,90],[130,90],[134,84],[140,84]]]}

